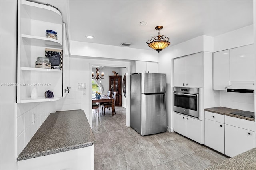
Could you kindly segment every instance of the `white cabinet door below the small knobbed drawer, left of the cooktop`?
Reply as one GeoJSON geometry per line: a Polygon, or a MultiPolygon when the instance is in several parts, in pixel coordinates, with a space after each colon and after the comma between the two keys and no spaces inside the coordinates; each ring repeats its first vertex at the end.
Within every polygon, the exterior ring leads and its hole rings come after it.
{"type": "Polygon", "coordinates": [[[224,154],[225,124],[209,119],[204,124],[204,144],[224,154]]]}

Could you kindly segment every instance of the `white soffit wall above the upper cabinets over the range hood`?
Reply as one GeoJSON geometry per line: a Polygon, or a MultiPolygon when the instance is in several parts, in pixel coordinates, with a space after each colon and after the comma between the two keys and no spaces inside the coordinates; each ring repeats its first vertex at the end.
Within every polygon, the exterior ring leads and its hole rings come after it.
{"type": "Polygon", "coordinates": [[[254,43],[253,25],[214,37],[214,52],[254,43]]]}

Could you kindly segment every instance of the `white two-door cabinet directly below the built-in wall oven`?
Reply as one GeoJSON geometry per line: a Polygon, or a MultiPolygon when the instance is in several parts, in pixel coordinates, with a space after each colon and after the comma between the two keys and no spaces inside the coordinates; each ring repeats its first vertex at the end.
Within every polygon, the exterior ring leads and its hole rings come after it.
{"type": "Polygon", "coordinates": [[[202,144],[202,121],[174,113],[174,131],[202,144]]]}

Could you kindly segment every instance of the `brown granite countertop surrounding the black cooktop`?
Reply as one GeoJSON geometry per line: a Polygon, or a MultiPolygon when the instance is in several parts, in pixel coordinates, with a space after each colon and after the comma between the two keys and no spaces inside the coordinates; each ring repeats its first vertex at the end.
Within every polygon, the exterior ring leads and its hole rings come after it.
{"type": "Polygon", "coordinates": [[[240,116],[240,115],[231,114],[230,112],[241,111],[241,110],[231,109],[231,108],[227,108],[227,107],[206,108],[206,109],[204,109],[204,111],[218,113],[218,114],[221,114],[221,115],[227,115],[227,116],[231,116],[231,117],[237,117],[237,118],[246,119],[246,120],[249,120],[249,121],[254,121],[255,120],[254,118],[251,118],[251,117],[244,117],[244,116],[240,116]]]}

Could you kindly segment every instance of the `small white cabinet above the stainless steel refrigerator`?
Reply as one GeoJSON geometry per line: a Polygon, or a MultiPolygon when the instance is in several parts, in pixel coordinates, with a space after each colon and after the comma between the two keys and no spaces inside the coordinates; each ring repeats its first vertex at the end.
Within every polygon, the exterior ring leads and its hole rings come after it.
{"type": "Polygon", "coordinates": [[[158,73],[158,63],[149,61],[132,61],[131,73],[158,73]]]}

